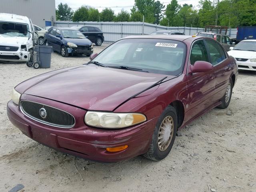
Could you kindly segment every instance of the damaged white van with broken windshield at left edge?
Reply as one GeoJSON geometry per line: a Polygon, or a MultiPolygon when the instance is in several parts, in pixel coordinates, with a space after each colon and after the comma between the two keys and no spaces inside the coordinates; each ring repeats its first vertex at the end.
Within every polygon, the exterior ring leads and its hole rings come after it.
{"type": "Polygon", "coordinates": [[[0,13],[0,61],[26,62],[34,28],[26,16],[0,13]]]}

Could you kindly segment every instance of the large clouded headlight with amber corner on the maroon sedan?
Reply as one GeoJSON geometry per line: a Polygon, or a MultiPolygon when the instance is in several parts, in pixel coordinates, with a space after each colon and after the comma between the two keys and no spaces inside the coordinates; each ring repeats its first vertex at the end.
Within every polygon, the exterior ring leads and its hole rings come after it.
{"type": "Polygon", "coordinates": [[[88,111],[84,122],[98,128],[124,128],[146,121],[146,116],[140,113],[108,113],[88,111]]]}

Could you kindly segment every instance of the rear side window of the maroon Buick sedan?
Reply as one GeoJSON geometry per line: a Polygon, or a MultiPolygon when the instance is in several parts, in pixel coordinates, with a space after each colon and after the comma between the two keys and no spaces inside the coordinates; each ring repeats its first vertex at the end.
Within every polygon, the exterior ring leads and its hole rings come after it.
{"type": "Polygon", "coordinates": [[[209,50],[211,64],[213,66],[218,64],[219,62],[222,62],[226,58],[224,50],[217,42],[206,40],[206,45],[209,50]]]}

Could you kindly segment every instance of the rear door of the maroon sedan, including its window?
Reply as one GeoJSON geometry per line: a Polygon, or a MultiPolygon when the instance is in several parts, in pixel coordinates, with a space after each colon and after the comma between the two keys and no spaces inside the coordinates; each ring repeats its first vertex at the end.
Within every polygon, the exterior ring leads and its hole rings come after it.
{"type": "Polygon", "coordinates": [[[213,102],[216,102],[222,98],[226,91],[231,76],[231,62],[220,44],[213,40],[205,40],[205,42],[210,56],[210,63],[214,70],[215,90],[213,102]]]}

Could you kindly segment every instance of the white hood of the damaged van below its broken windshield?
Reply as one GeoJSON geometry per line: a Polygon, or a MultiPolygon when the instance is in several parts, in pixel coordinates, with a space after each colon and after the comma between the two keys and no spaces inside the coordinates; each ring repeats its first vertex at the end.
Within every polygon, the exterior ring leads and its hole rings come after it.
{"type": "Polygon", "coordinates": [[[4,46],[20,46],[20,45],[26,45],[28,42],[27,37],[6,37],[4,35],[0,35],[0,42],[1,45],[4,46]]]}

